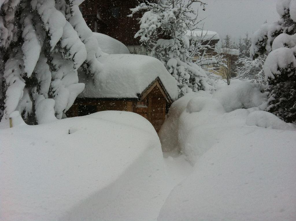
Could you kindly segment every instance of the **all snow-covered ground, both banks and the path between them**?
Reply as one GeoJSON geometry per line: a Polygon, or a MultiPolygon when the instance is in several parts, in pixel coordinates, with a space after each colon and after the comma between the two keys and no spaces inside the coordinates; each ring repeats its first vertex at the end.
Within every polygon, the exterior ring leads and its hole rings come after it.
{"type": "Polygon", "coordinates": [[[295,220],[296,128],[266,101],[240,80],[187,94],[164,155],[130,112],[1,129],[0,220],[295,220]]]}

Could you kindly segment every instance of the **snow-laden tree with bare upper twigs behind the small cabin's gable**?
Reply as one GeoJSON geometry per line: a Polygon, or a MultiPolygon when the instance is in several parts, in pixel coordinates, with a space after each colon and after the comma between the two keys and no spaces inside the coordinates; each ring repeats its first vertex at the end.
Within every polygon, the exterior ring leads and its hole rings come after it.
{"type": "Polygon", "coordinates": [[[146,46],[152,57],[159,59],[178,81],[179,94],[213,88],[205,71],[192,62],[189,53],[189,40],[185,37],[187,30],[194,30],[198,23],[193,4],[205,3],[200,0],[166,0],[145,2],[131,9],[133,14],[146,11],[140,19],[140,30],[136,37],[146,46]]]}

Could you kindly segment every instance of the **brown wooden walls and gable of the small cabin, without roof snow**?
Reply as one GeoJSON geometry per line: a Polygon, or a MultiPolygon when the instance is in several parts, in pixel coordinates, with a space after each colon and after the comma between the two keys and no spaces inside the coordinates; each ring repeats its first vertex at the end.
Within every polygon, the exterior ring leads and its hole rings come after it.
{"type": "Polygon", "coordinates": [[[157,78],[138,98],[77,98],[67,114],[75,117],[106,110],[130,111],[145,117],[158,132],[172,102],[157,78]]]}

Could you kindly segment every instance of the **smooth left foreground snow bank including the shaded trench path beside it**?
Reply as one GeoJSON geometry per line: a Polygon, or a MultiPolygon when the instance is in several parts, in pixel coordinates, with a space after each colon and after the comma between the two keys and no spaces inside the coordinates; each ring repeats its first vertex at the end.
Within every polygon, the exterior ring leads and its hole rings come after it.
{"type": "Polygon", "coordinates": [[[160,142],[139,114],[19,125],[0,137],[0,220],[153,220],[165,200],[160,142]]]}

